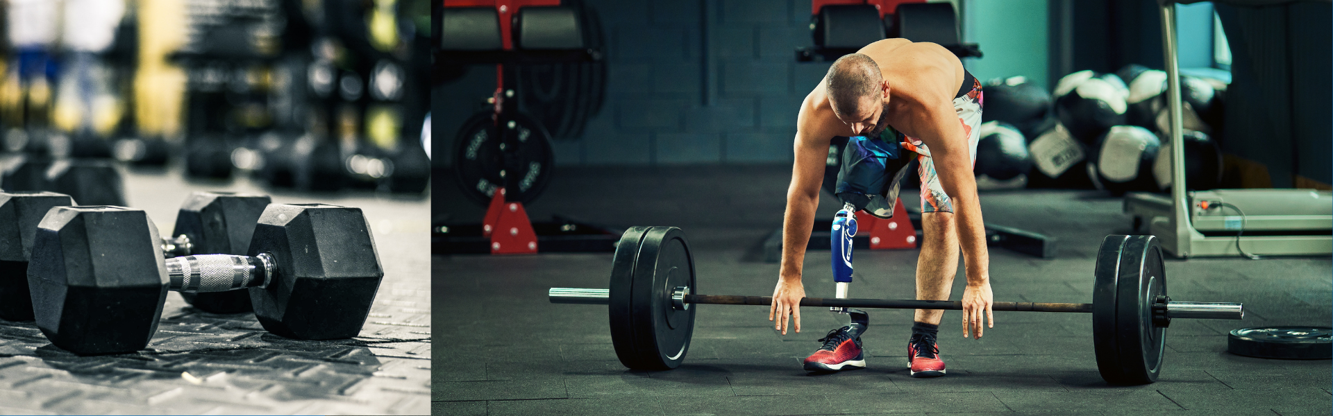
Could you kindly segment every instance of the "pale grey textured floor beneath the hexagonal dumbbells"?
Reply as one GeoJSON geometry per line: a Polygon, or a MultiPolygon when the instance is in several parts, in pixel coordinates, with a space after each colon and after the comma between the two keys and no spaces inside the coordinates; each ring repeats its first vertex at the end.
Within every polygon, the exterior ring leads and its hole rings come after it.
{"type": "Polygon", "coordinates": [[[3,415],[424,415],[431,384],[429,201],[372,193],[272,192],[248,180],[192,183],[128,172],[125,199],[169,232],[193,191],[272,195],[273,203],[359,207],[384,267],[369,319],[349,340],[268,333],[253,313],[213,315],[168,292],[157,333],[137,353],[80,357],[28,323],[0,321],[3,415]]]}

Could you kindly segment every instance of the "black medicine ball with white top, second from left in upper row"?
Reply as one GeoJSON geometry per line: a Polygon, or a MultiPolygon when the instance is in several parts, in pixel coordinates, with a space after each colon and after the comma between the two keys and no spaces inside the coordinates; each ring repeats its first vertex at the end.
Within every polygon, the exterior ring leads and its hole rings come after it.
{"type": "Polygon", "coordinates": [[[1056,95],[1056,116],[1084,144],[1096,144],[1097,137],[1112,125],[1125,124],[1128,88],[1120,77],[1104,77],[1092,71],[1074,72],[1060,80],[1056,95]]]}

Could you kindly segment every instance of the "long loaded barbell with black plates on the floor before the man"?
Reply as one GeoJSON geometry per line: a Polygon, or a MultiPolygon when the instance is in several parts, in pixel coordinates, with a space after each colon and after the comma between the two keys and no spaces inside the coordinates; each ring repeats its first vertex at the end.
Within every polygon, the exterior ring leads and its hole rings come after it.
{"type": "MultiPolygon", "coordinates": [[[[1173,301],[1153,236],[1106,236],[1093,269],[1093,303],[996,301],[992,311],[1092,313],[1097,369],[1112,384],[1148,384],[1161,373],[1172,319],[1242,319],[1236,303],[1173,301]]],[[[769,305],[770,296],[696,295],[694,259],[674,227],[632,227],[616,243],[608,289],[551,288],[559,304],[603,304],[620,363],[672,369],[689,349],[692,304],[769,305]]],[[[802,307],[962,309],[961,301],[804,297],[802,307]]]]}

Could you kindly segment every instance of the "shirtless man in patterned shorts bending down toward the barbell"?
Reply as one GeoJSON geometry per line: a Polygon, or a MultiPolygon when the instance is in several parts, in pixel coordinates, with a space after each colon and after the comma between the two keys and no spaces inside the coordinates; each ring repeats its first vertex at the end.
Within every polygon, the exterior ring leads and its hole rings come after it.
{"type": "MultiPolygon", "coordinates": [[[[782,224],[782,265],[768,316],[770,321],[777,319],[774,329],[786,335],[788,317],[794,317],[796,332],[801,332],[798,305],[801,297],[805,297],[801,264],[814,221],[814,208],[818,207],[829,143],[834,136],[860,136],[850,137],[849,143],[864,144],[861,148],[916,153],[917,172],[921,175],[921,228],[925,235],[917,260],[916,299],[949,299],[961,247],[968,279],[962,292],[964,337],[981,337],[982,316],[988,327],[993,328],[989,257],[977,184],[972,173],[980,136],[981,103],[981,84],[962,68],[953,53],[933,43],[885,39],[833,63],[824,80],[805,96],[797,117],[796,163],[782,224]]],[[[844,160],[842,172],[848,173],[848,169],[844,160]]],[[[894,173],[897,172],[884,169],[876,176],[900,177],[894,173]]],[[[884,180],[880,179],[880,183],[884,180]]],[[[842,185],[845,184],[840,184],[840,199],[848,201],[842,197],[842,185]]],[[[892,215],[897,187],[892,187],[892,193],[870,195],[872,203],[880,204],[878,209],[864,207],[865,197],[850,205],[877,216],[892,215]],[[886,212],[884,204],[890,204],[886,212]]],[[[934,341],[942,316],[944,311],[938,309],[916,311],[908,343],[912,376],[944,375],[944,361],[938,357],[934,341]]],[[[833,329],[821,339],[824,347],[805,359],[805,369],[865,367],[860,340],[864,328],[854,327],[833,329]]]]}

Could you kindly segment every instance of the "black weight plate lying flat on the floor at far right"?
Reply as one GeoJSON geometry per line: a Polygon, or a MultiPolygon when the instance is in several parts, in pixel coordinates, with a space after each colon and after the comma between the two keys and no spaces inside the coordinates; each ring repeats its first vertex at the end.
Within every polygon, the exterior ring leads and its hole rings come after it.
{"type": "Polygon", "coordinates": [[[1232,329],[1226,351],[1260,359],[1328,360],[1333,357],[1333,328],[1268,327],[1232,329]]]}

